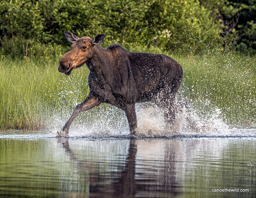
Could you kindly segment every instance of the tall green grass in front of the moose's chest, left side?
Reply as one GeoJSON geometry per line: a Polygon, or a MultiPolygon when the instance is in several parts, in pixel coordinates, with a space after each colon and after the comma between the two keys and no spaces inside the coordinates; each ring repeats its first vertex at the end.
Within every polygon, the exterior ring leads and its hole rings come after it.
{"type": "Polygon", "coordinates": [[[69,98],[84,99],[88,72],[74,71],[67,77],[58,72],[58,64],[58,60],[0,61],[1,129],[39,130],[56,111],[73,108],[69,98]],[[72,93],[74,87],[81,92],[72,93]]]}

